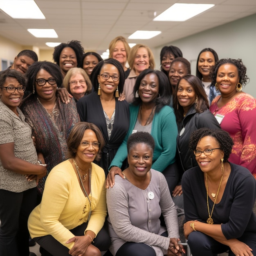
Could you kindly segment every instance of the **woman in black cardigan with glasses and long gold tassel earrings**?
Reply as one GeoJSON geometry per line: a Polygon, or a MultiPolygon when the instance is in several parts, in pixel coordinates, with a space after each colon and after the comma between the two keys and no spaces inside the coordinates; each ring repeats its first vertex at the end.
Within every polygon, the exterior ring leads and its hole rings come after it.
{"type": "Polygon", "coordinates": [[[100,161],[106,175],[108,167],[121,145],[129,127],[129,106],[119,101],[124,88],[124,69],[113,58],[100,61],[91,74],[94,92],[85,95],[77,103],[81,121],[96,124],[105,139],[100,161]]]}

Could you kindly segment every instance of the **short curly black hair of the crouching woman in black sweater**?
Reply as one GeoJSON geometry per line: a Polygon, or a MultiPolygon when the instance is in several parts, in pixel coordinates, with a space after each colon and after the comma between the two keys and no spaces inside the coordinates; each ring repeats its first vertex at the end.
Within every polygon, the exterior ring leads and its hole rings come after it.
{"type": "Polygon", "coordinates": [[[200,128],[191,133],[189,139],[189,147],[193,151],[196,149],[198,141],[200,139],[210,136],[218,141],[220,148],[224,152],[223,162],[227,162],[229,159],[229,155],[231,154],[232,147],[234,145],[233,139],[230,137],[229,133],[222,129],[208,129],[208,128],[200,128]]]}

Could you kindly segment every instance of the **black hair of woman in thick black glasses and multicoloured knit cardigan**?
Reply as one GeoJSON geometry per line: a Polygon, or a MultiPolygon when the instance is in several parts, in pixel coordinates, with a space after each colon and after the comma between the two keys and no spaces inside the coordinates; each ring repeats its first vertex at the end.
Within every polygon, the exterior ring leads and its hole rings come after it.
{"type": "Polygon", "coordinates": [[[57,86],[62,87],[63,76],[61,74],[60,67],[49,61],[38,61],[38,62],[34,62],[27,69],[27,72],[26,72],[27,90],[32,92],[34,89],[36,94],[35,83],[36,83],[36,75],[39,72],[39,70],[47,71],[56,79],[57,86]]]}

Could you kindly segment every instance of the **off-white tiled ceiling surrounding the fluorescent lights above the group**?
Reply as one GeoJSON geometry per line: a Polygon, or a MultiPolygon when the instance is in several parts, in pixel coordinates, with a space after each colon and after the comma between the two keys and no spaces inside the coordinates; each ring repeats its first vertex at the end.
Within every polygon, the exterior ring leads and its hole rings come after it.
{"type": "MultiPolygon", "coordinates": [[[[7,0],[6,0],[7,1],[7,0]]],[[[174,3],[192,0],[35,0],[46,20],[12,19],[0,10],[0,35],[21,45],[50,49],[46,42],[79,40],[85,51],[101,53],[116,36],[128,38],[136,30],[160,30],[149,40],[128,40],[157,47],[256,13],[256,0],[193,0],[215,6],[185,22],[153,21],[174,3]],[[55,29],[58,38],[35,38],[27,29],[55,29]]],[[[22,10],[21,10],[22,11],[22,10]]]]}

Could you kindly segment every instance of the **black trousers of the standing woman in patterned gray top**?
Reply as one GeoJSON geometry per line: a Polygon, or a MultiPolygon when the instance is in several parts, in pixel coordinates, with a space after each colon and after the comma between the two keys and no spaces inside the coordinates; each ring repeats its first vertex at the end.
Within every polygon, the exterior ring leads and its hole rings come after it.
{"type": "Polygon", "coordinates": [[[0,255],[29,256],[27,220],[36,207],[37,189],[15,193],[0,189],[0,255]]]}

